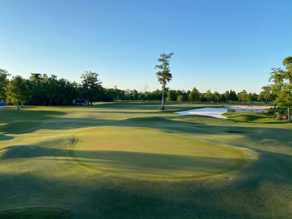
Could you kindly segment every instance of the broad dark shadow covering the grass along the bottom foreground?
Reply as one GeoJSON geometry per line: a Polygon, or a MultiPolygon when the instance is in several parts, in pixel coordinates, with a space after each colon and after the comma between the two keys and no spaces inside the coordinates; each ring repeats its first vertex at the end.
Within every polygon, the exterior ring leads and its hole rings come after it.
{"type": "Polygon", "coordinates": [[[81,181],[74,176],[43,179],[28,173],[0,173],[0,183],[4,189],[0,218],[250,218],[237,213],[236,207],[227,211],[212,201],[218,191],[200,190],[192,196],[173,183],[162,188],[165,194],[155,192],[153,182],[147,186],[140,182],[137,190],[133,186],[136,180],[116,184],[114,180],[81,181]],[[208,206],[200,199],[209,201],[208,206]],[[10,203],[17,203],[18,208],[9,208],[10,203]]]}

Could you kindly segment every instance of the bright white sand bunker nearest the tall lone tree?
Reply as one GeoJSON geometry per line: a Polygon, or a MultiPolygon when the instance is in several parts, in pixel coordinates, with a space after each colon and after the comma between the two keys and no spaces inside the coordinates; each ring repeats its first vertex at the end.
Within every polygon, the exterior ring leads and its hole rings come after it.
{"type": "Polygon", "coordinates": [[[211,116],[211,117],[216,117],[220,119],[227,119],[227,117],[221,116],[221,114],[227,112],[227,110],[228,109],[205,107],[205,108],[192,109],[188,111],[181,111],[181,112],[175,112],[175,113],[183,114],[183,115],[211,116]]]}

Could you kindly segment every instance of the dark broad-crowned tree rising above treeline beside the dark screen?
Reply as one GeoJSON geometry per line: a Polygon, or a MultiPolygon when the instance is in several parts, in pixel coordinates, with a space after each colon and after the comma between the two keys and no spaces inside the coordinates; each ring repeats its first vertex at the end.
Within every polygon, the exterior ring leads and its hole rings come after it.
{"type": "Polygon", "coordinates": [[[87,104],[92,105],[94,98],[96,97],[99,89],[101,88],[101,81],[98,79],[98,75],[95,72],[85,72],[80,78],[82,79],[81,84],[84,90],[84,93],[87,97],[87,104]]]}

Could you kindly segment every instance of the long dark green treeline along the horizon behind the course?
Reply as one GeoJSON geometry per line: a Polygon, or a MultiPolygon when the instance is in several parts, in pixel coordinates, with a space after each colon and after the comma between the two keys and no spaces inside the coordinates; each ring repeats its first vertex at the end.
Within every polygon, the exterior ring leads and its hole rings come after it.
{"type": "MultiPolygon", "coordinates": [[[[70,105],[72,99],[86,99],[88,104],[92,102],[112,102],[117,100],[132,100],[132,101],[154,101],[160,102],[162,99],[162,91],[147,91],[148,86],[144,86],[144,91],[120,90],[114,88],[103,88],[101,81],[98,79],[98,74],[95,72],[85,72],[81,75],[81,84],[75,81],[71,82],[67,79],[57,79],[56,75],[48,76],[46,74],[32,73],[28,79],[21,76],[13,76],[8,79],[11,74],[6,70],[0,69],[0,101],[5,101],[6,104],[21,104],[27,105],[70,105]]],[[[255,101],[265,100],[267,95],[257,95],[256,93],[247,93],[241,91],[226,91],[219,94],[212,93],[210,90],[200,93],[196,88],[192,91],[171,90],[165,88],[166,101],[196,101],[201,102],[233,102],[233,101],[255,101]]],[[[269,96],[270,98],[270,96],[269,96]]]]}

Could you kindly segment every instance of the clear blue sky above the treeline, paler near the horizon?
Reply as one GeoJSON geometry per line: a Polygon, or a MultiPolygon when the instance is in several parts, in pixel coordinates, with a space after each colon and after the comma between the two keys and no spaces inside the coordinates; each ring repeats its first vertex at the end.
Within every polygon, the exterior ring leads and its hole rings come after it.
{"type": "Polygon", "coordinates": [[[259,93],[291,55],[291,1],[0,0],[0,68],[103,87],[161,88],[154,65],[173,52],[171,89],[259,93]]]}

